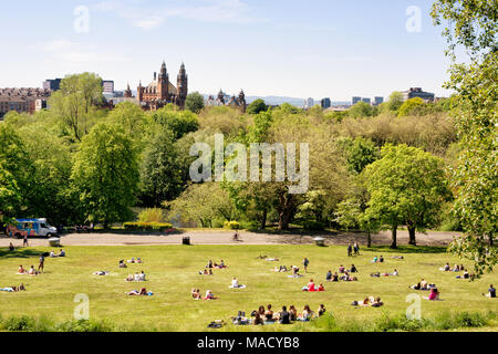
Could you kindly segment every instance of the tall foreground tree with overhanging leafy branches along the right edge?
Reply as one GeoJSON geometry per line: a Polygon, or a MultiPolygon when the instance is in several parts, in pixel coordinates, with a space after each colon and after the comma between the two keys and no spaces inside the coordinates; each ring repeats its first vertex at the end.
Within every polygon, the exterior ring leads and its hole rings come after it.
{"type": "Polygon", "coordinates": [[[432,15],[436,25],[449,22],[443,35],[446,54],[454,61],[447,88],[453,97],[460,156],[454,169],[456,189],[454,214],[465,236],[452,244],[452,251],[475,261],[481,275],[498,262],[492,244],[498,228],[498,15],[494,0],[438,0],[432,15]],[[457,63],[458,49],[469,56],[457,63]],[[491,246],[491,247],[490,247],[491,246]]]}

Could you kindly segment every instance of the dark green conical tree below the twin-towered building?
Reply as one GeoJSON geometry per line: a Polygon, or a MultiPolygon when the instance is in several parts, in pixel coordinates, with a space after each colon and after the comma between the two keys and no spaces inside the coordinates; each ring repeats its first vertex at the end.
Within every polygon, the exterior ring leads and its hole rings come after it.
{"type": "Polygon", "coordinates": [[[181,167],[170,131],[163,128],[145,150],[141,168],[142,204],[160,207],[163,201],[173,200],[181,192],[181,167]]]}

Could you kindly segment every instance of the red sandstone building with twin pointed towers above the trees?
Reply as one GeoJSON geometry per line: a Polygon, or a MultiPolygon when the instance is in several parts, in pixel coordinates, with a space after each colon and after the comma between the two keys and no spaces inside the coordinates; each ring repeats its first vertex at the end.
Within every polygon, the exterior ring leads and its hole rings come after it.
{"type": "Polygon", "coordinates": [[[185,107],[185,101],[188,95],[188,76],[184,63],[181,63],[177,86],[175,87],[169,81],[169,74],[166,70],[166,62],[163,61],[159,74],[154,73],[154,81],[147,86],[143,86],[142,82],[137,87],[137,100],[145,110],[156,111],[165,105],[173,103],[180,107],[185,107]]]}

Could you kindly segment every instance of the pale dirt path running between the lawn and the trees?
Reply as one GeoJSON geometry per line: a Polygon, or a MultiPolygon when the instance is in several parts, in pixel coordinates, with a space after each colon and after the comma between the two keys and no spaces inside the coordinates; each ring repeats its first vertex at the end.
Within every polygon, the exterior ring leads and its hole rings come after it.
{"type": "MultiPolygon", "coordinates": [[[[317,236],[299,235],[269,235],[241,232],[241,242],[231,241],[231,232],[224,231],[188,231],[179,235],[152,236],[152,235],[120,235],[120,233],[70,233],[61,237],[62,246],[154,246],[154,244],[180,244],[184,237],[190,238],[191,244],[307,244],[312,243],[317,236]]],[[[458,232],[435,232],[428,235],[417,233],[419,246],[447,246],[458,232]]],[[[326,244],[347,244],[357,241],[366,244],[366,235],[338,233],[323,236],[326,244]]],[[[22,240],[12,240],[0,237],[0,247],[8,247],[9,242],[21,246],[22,240]]],[[[407,244],[408,232],[401,230],[397,233],[398,244],[407,244]]],[[[372,237],[373,244],[391,244],[391,233],[381,232],[372,237]]],[[[30,239],[30,246],[48,246],[46,239],[30,239]]]]}

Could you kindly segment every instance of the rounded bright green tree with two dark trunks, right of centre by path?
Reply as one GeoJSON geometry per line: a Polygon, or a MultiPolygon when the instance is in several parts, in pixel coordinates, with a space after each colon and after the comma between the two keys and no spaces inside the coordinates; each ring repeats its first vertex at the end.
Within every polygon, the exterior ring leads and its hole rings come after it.
{"type": "Polygon", "coordinates": [[[396,248],[396,230],[406,225],[409,243],[415,231],[434,226],[442,206],[449,199],[443,162],[416,147],[386,145],[382,158],[365,169],[371,196],[365,214],[391,228],[396,248]]]}

